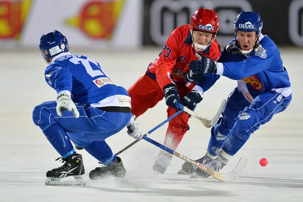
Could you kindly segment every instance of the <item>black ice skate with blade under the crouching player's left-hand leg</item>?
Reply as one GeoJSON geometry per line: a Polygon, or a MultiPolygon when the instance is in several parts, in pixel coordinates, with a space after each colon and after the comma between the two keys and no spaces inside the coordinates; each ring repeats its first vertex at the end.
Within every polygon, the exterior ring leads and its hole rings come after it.
{"type": "MultiPolygon", "coordinates": [[[[61,158],[61,157],[60,157],[61,158]]],[[[58,158],[58,159],[60,159],[58,158]]],[[[56,161],[58,160],[56,159],[56,161]]],[[[74,154],[67,158],[61,158],[61,167],[54,168],[51,171],[47,171],[45,185],[57,185],[57,186],[81,186],[85,185],[82,175],[85,173],[82,155],[74,154]],[[74,180],[70,180],[72,176],[74,180]]]]}

